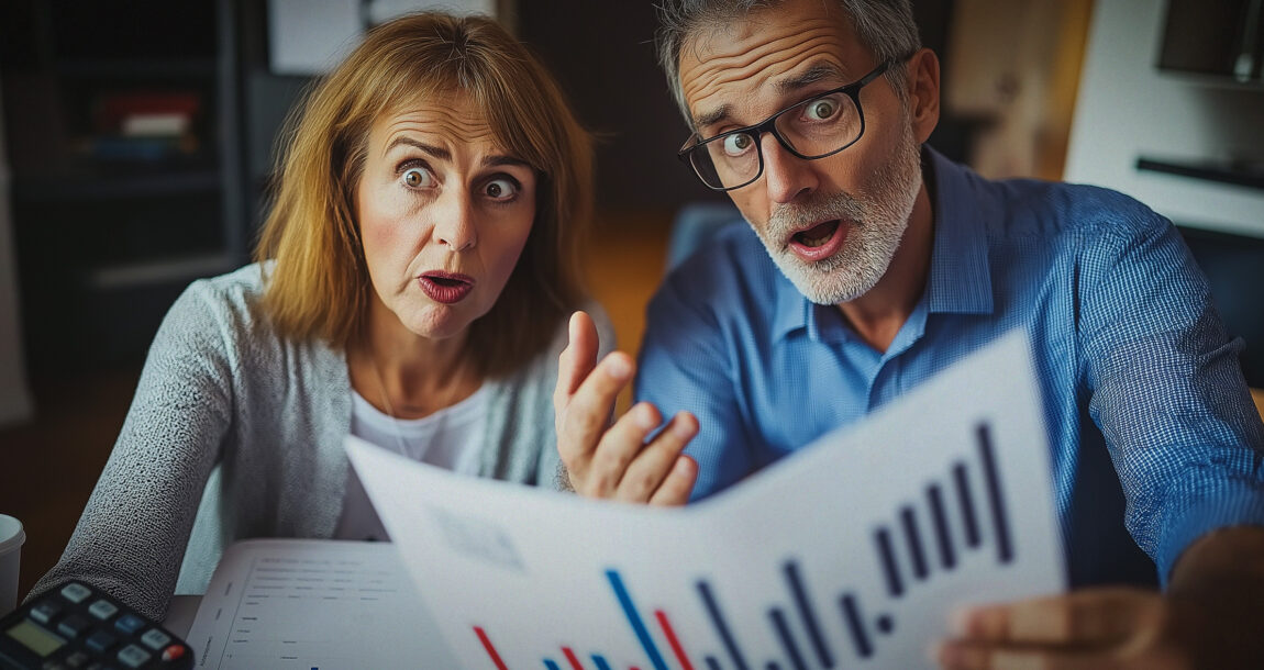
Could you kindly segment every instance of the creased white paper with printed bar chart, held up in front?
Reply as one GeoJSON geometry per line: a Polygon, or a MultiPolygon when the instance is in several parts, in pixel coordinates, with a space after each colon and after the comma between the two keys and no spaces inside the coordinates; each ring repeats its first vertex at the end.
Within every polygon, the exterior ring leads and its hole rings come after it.
{"type": "Polygon", "coordinates": [[[1035,389],[1006,336],[684,509],[348,453],[465,667],[913,669],[954,607],[1064,589],[1035,389]]]}

